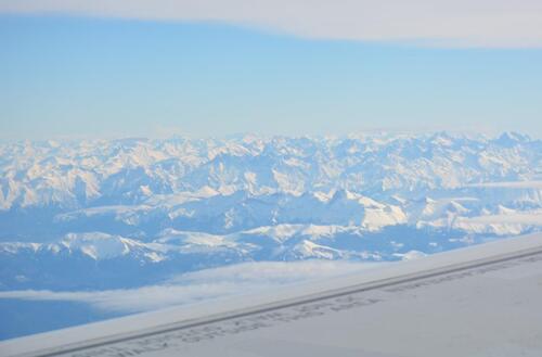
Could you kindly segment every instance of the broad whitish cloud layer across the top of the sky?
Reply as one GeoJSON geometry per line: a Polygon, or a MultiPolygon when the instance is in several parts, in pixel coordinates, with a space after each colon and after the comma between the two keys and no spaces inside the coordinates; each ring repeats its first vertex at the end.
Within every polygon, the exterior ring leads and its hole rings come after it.
{"type": "Polygon", "coordinates": [[[0,0],[0,12],[219,21],[304,37],[542,47],[540,0],[0,0]]]}

